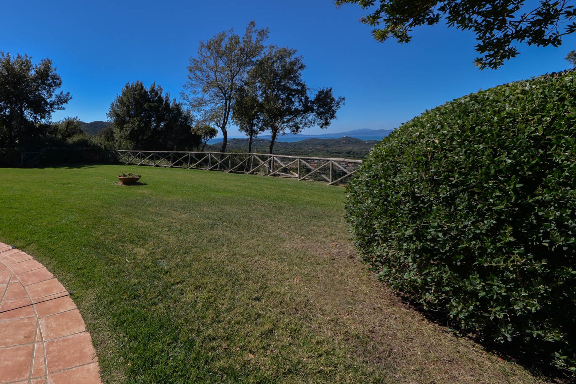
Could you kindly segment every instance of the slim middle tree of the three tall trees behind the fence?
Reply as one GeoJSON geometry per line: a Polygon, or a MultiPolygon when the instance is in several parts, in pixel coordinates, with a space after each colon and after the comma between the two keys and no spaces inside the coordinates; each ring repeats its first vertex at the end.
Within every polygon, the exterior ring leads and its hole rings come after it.
{"type": "Polygon", "coordinates": [[[232,117],[238,131],[248,136],[248,152],[252,152],[252,139],[264,130],[260,124],[262,102],[257,94],[256,83],[249,79],[236,91],[232,105],[232,117]]]}

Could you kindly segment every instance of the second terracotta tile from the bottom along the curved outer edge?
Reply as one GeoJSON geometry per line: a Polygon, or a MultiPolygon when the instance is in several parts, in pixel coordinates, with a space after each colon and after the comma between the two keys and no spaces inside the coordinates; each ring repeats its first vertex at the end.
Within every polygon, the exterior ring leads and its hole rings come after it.
{"type": "Polygon", "coordinates": [[[96,352],[88,332],[46,341],[44,348],[46,348],[48,372],[96,362],[96,352]]]}

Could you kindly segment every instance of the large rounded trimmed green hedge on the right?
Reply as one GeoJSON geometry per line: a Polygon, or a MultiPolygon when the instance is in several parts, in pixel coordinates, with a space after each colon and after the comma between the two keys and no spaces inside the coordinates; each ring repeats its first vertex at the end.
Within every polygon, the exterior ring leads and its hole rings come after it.
{"type": "Polygon", "coordinates": [[[576,72],[404,124],[348,185],[347,219],[396,290],[456,328],[576,370],[576,72]]]}

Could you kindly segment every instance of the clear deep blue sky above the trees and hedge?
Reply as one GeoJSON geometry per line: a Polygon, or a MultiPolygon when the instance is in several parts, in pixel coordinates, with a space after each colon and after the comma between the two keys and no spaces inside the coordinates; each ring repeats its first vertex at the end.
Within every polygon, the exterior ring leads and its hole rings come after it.
{"type": "Polygon", "coordinates": [[[268,43],[304,56],[309,86],[346,97],[323,132],[396,128],[464,94],[566,69],[564,57],[576,49],[574,36],[559,48],[520,45],[521,55],[501,69],[480,71],[469,32],[426,26],[409,44],[376,43],[358,22],[362,9],[338,9],[331,0],[5,1],[0,14],[0,50],[52,59],[73,95],[53,120],[106,120],[110,102],[135,80],[156,81],[179,98],[198,41],[232,27],[242,33],[251,20],[270,28],[268,43]]]}

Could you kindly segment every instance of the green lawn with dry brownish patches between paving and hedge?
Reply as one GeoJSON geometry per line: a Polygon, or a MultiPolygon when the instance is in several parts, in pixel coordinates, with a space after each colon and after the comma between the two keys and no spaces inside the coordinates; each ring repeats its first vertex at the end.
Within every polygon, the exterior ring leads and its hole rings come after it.
{"type": "Polygon", "coordinates": [[[105,383],[537,382],[377,283],[343,188],[111,165],[0,180],[0,241],[74,292],[105,383]]]}

